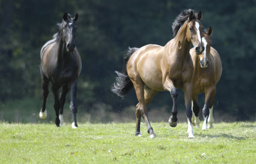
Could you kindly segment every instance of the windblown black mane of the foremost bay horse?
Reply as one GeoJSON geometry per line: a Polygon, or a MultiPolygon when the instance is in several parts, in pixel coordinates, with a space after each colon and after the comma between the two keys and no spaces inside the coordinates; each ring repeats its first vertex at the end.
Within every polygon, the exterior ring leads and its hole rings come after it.
{"type": "Polygon", "coordinates": [[[175,18],[174,22],[172,23],[172,33],[173,37],[175,37],[180,29],[180,27],[184,24],[186,20],[188,20],[190,12],[193,11],[194,19],[196,19],[196,12],[192,9],[186,9],[180,12],[180,14],[175,18]]]}

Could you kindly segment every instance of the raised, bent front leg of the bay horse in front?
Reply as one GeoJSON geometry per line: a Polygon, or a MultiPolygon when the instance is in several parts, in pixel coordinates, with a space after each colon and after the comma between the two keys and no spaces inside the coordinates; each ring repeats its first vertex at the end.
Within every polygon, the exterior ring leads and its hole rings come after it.
{"type": "Polygon", "coordinates": [[[171,93],[172,96],[172,101],[173,101],[173,106],[172,106],[172,116],[168,120],[169,125],[171,127],[176,127],[177,126],[177,114],[178,114],[178,109],[177,109],[177,98],[178,98],[178,90],[174,87],[174,84],[170,78],[167,78],[166,81],[164,82],[164,89],[168,90],[171,93]]]}

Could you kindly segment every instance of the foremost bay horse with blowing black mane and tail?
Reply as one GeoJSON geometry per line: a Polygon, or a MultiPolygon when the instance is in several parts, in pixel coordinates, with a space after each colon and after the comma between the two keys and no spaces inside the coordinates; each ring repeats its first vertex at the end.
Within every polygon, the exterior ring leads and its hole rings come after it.
{"type": "Polygon", "coordinates": [[[150,138],[156,134],[148,119],[147,105],[158,91],[169,91],[172,100],[172,116],[168,120],[171,127],[177,126],[177,97],[182,88],[185,93],[186,116],[188,119],[188,137],[194,138],[192,127],[192,75],[193,62],[189,54],[190,43],[197,54],[202,54],[202,30],[200,22],[202,12],[188,9],[182,11],[172,24],[174,38],[164,47],[148,44],[141,48],[129,48],[124,56],[122,72],[117,72],[116,84],[112,92],[124,97],[133,87],[139,103],[136,105],[136,136],[141,136],[140,119],[144,118],[150,138]]]}

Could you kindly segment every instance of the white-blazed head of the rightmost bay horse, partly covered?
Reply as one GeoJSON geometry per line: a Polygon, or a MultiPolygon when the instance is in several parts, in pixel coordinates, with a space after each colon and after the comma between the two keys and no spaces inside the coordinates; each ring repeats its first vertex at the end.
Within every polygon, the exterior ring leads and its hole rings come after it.
{"type": "Polygon", "coordinates": [[[210,38],[212,34],[212,27],[210,26],[207,32],[203,32],[202,42],[204,46],[204,53],[199,56],[200,66],[202,68],[208,67],[208,57],[210,55],[212,40],[210,38]]]}

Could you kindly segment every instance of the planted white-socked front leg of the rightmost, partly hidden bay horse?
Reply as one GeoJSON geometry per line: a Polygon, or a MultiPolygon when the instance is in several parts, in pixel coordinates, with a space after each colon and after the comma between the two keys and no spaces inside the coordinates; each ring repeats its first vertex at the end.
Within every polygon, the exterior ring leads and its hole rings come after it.
{"type": "Polygon", "coordinates": [[[210,108],[212,108],[214,103],[214,96],[215,96],[216,89],[214,86],[210,86],[205,91],[205,101],[204,101],[204,108],[202,110],[203,116],[204,116],[204,123],[202,126],[203,130],[207,130],[207,120],[210,114],[210,108]]]}

